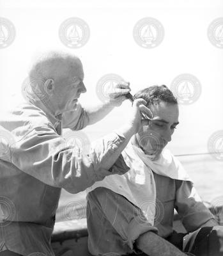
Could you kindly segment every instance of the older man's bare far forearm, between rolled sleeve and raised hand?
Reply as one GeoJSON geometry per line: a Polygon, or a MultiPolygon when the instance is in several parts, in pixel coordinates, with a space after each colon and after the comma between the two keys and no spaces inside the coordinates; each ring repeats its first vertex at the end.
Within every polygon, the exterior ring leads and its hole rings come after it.
{"type": "Polygon", "coordinates": [[[99,104],[91,108],[84,108],[89,118],[88,125],[95,124],[96,122],[102,120],[112,111],[113,108],[114,104],[111,104],[111,102],[99,104]]]}

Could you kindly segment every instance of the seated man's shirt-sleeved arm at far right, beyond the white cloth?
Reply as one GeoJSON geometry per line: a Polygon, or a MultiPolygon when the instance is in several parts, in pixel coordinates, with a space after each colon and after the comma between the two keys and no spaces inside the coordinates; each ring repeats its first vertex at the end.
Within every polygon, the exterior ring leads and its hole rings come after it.
{"type": "Polygon", "coordinates": [[[217,221],[203,204],[192,182],[176,180],[175,208],[188,232],[201,227],[213,227],[217,221]]]}

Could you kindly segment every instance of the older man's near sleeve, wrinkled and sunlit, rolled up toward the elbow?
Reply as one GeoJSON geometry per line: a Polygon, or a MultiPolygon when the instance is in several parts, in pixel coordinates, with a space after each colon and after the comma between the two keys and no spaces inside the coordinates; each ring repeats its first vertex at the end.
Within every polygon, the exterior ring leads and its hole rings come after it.
{"type": "Polygon", "coordinates": [[[123,173],[129,170],[120,156],[124,140],[111,133],[81,153],[52,127],[35,127],[13,145],[12,163],[49,186],[78,193],[116,172],[116,164],[120,172],[120,161],[123,173]]]}

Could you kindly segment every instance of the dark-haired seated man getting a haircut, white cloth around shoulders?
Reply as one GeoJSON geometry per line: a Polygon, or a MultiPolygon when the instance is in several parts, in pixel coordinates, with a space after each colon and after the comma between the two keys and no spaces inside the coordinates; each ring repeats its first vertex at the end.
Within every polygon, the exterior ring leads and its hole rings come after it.
{"type": "Polygon", "coordinates": [[[130,170],[88,189],[89,252],[222,255],[222,227],[178,159],[164,148],[179,124],[176,98],[165,85],[141,90],[134,96],[138,98],[146,100],[154,118],[142,120],[141,130],[122,153],[130,170]],[[174,209],[188,233],[173,230],[174,209]]]}

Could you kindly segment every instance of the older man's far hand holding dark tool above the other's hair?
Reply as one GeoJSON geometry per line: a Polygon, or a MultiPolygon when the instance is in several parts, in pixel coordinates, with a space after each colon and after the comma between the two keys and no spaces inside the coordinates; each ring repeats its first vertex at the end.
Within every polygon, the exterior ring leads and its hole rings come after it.
{"type": "Polygon", "coordinates": [[[109,103],[115,107],[121,105],[121,103],[127,98],[125,95],[131,91],[128,82],[122,81],[119,84],[116,84],[114,88],[112,88],[111,92],[108,92],[109,95],[109,103]]]}

